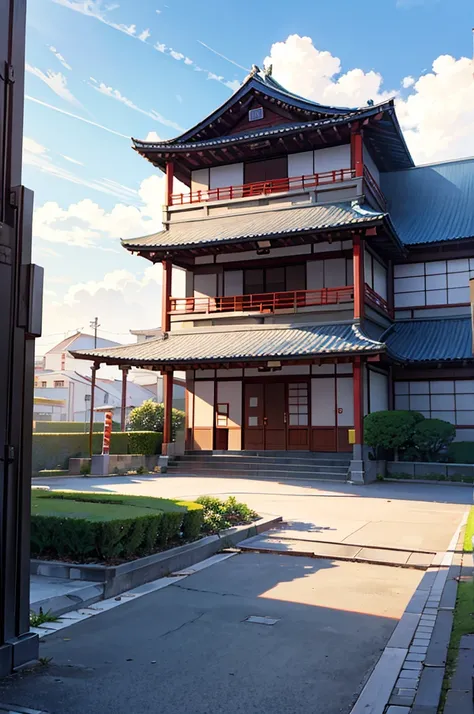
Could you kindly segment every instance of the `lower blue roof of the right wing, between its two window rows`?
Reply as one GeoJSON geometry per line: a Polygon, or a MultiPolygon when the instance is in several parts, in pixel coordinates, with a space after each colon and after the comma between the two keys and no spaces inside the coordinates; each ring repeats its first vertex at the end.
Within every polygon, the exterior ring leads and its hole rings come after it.
{"type": "Polygon", "coordinates": [[[395,322],[380,339],[403,362],[473,359],[469,317],[395,322]]]}

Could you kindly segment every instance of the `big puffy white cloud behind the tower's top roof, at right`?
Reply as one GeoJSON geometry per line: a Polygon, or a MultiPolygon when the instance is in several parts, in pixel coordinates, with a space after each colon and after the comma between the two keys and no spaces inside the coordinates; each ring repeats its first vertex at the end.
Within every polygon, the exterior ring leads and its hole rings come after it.
{"type": "Polygon", "coordinates": [[[314,47],[311,38],[290,35],[272,45],[265,66],[287,89],[334,106],[364,106],[395,97],[397,114],[417,163],[474,155],[473,61],[449,55],[435,59],[432,72],[418,79],[405,77],[411,93],[384,91],[382,76],[370,70],[341,73],[341,61],[314,47]],[[413,81],[412,81],[413,80],[413,81]]]}

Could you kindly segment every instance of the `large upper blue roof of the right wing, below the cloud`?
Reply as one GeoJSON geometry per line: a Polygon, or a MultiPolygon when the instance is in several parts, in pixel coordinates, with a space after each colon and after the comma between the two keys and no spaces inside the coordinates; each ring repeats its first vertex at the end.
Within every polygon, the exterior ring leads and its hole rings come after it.
{"type": "Polygon", "coordinates": [[[381,173],[380,180],[403,243],[474,237],[474,158],[381,173]]]}

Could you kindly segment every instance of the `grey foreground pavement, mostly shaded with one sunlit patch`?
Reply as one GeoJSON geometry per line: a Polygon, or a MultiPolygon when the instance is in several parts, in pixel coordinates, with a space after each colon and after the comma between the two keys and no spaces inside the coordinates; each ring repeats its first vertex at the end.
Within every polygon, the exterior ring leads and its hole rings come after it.
{"type": "Polygon", "coordinates": [[[420,578],[239,554],[44,638],[51,664],[3,682],[0,702],[52,714],[347,713],[420,578]]]}

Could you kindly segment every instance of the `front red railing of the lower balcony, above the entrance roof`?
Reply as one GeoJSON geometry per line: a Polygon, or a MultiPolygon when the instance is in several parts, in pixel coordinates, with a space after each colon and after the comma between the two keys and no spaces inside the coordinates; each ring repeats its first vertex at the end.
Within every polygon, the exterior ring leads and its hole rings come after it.
{"type": "Polygon", "coordinates": [[[223,297],[171,298],[170,312],[173,315],[211,312],[275,312],[298,310],[318,305],[340,305],[352,302],[352,285],[321,290],[290,290],[282,293],[255,295],[232,295],[223,297]]]}

